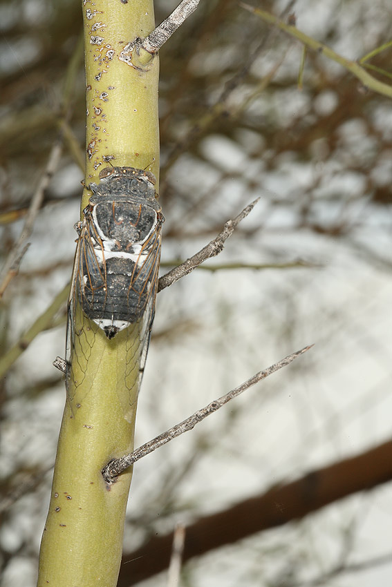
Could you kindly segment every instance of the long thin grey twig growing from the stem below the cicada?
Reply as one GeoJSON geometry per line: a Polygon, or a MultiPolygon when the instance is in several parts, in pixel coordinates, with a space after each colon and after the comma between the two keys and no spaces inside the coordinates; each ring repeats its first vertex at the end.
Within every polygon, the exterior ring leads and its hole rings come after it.
{"type": "Polygon", "coordinates": [[[295,358],[297,358],[301,354],[304,354],[312,346],[313,345],[304,347],[304,349],[301,349],[300,351],[297,351],[286,356],[285,358],[282,358],[281,360],[279,360],[278,363],[275,363],[274,365],[268,367],[268,369],[265,369],[264,371],[259,371],[259,373],[256,373],[256,375],[248,379],[248,381],[245,381],[245,383],[241,383],[239,387],[232,389],[232,391],[228,392],[224,396],[221,396],[220,398],[212,401],[211,403],[203,407],[201,410],[198,410],[197,412],[192,414],[192,416],[189,416],[189,418],[186,418],[185,420],[183,420],[179,424],[176,424],[166,432],[163,432],[159,436],[156,436],[155,439],[140,446],[139,448],[131,452],[131,454],[126,454],[122,456],[120,459],[114,459],[113,461],[110,461],[110,463],[108,463],[106,467],[102,470],[104,480],[106,481],[106,483],[109,484],[114,483],[115,478],[120,473],[122,473],[131,465],[133,465],[133,463],[136,463],[136,461],[139,461],[139,459],[142,459],[143,456],[146,456],[150,452],[153,452],[157,448],[160,448],[164,444],[175,439],[176,436],[180,436],[180,434],[192,430],[196,426],[196,424],[204,420],[204,418],[207,418],[209,414],[216,412],[216,410],[219,410],[219,408],[225,405],[225,403],[245,392],[245,389],[252,387],[252,385],[258,383],[262,379],[265,379],[272,373],[279,371],[279,369],[281,369],[282,367],[290,365],[290,363],[292,363],[292,361],[295,360],[295,358]]]}

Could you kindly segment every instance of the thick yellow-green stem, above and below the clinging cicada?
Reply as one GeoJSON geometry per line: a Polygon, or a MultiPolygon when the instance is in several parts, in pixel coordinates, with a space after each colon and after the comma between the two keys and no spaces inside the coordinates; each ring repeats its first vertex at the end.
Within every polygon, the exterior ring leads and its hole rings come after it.
{"type": "MultiPolygon", "coordinates": [[[[120,61],[129,41],[154,28],[153,1],[83,2],[86,176],[82,210],[101,169],[149,169],[158,180],[158,57],[120,61]]],[[[137,56],[136,56],[137,57],[137,56]]],[[[136,58],[135,57],[135,58],[136,58]]],[[[158,188],[157,188],[158,191],[158,188]]],[[[130,452],[138,398],[138,323],[109,340],[78,307],[39,587],[115,587],[131,471],[106,487],[101,470],[130,452]],[[126,367],[128,371],[126,373],[126,367]]]]}

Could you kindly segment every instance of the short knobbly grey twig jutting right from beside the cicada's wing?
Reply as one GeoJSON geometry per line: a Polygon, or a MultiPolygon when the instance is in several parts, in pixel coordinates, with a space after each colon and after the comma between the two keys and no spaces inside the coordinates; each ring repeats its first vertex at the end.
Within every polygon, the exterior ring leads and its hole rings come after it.
{"type": "Polygon", "coordinates": [[[251,204],[248,204],[248,206],[246,206],[243,211],[234,218],[234,220],[227,220],[223,230],[216,238],[206,244],[203,249],[182,264],[178,265],[178,267],[174,267],[174,269],[171,269],[171,271],[168,271],[168,273],[163,275],[158,282],[158,291],[162,291],[165,287],[169,287],[169,285],[196,269],[196,267],[206,259],[215,257],[221,253],[225,240],[232,235],[239,222],[248,216],[257,202],[259,202],[259,198],[251,202],[251,204]]]}

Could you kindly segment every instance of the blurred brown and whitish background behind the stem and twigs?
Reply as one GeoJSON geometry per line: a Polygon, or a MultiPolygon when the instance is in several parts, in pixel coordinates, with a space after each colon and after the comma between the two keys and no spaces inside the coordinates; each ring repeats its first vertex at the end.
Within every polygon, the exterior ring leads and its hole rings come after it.
{"type": "MultiPolygon", "coordinates": [[[[156,0],[157,23],[176,4],[156,0]]],[[[366,66],[391,83],[389,1],[253,5],[296,19],[353,61],[386,44],[366,66]]],[[[24,333],[71,277],[84,161],[81,6],[2,0],[0,30],[3,262],[64,131],[30,247],[1,300],[0,586],[32,587],[65,401],[52,366],[64,356],[64,303],[30,344],[24,333]]],[[[320,52],[307,52],[301,75],[302,57],[299,41],[234,0],[201,0],[160,51],[161,274],[260,200],[221,255],[158,295],[136,445],[283,356],[315,347],[136,465],[130,561],[178,521],[229,512],[391,440],[391,99],[320,52]]],[[[383,481],[391,478],[390,465],[383,481]]],[[[297,521],[230,545],[222,536],[222,548],[187,562],[182,584],[392,584],[391,528],[391,483],[369,481],[366,492],[297,521]]],[[[148,571],[159,552],[150,556],[143,585],[163,586],[166,574],[148,571]]],[[[132,570],[124,565],[122,585],[132,570]]]]}

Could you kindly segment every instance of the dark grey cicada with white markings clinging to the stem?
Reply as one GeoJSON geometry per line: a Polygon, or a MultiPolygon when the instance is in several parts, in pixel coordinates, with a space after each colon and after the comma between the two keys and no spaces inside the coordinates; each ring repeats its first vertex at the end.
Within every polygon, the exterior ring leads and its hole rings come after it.
{"type": "Polygon", "coordinates": [[[66,360],[71,367],[79,309],[108,339],[140,321],[137,358],[142,372],[155,311],[165,218],[151,173],[106,167],[99,177],[99,184],[88,186],[93,195],[82,222],[75,226],[79,238],[68,304],[66,360]]]}

